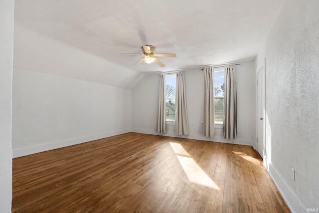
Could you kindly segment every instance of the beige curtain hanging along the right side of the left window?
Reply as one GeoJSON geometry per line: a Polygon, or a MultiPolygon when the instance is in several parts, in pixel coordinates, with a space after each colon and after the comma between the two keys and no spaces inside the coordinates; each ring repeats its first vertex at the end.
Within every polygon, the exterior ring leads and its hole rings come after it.
{"type": "Polygon", "coordinates": [[[175,95],[175,135],[189,135],[184,72],[176,73],[175,95]]]}

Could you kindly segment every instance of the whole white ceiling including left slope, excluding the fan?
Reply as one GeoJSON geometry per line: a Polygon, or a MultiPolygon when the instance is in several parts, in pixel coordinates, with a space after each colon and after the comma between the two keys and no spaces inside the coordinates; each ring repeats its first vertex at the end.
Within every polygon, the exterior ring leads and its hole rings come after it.
{"type": "Polygon", "coordinates": [[[284,0],[15,0],[13,66],[132,88],[145,73],[253,60],[284,0]],[[176,53],[133,66],[142,44],[176,53]]]}

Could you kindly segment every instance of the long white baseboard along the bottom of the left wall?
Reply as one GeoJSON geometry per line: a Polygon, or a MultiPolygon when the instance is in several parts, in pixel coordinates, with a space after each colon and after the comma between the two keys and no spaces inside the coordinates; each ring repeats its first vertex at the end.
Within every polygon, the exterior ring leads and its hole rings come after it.
{"type": "Polygon", "coordinates": [[[67,146],[72,146],[75,144],[81,144],[85,143],[88,141],[93,141],[101,138],[106,138],[114,135],[120,135],[123,133],[131,132],[131,129],[123,129],[123,130],[117,130],[117,131],[112,131],[112,132],[105,132],[97,135],[90,135],[90,136],[85,136],[81,138],[73,138],[73,139],[67,139],[64,141],[56,141],[53,143],[47,143],[47,144],[41,144],[37,146],[32,146],[32,147],[23,147],[19,149],[13,149],[12,150],[12,156],[13,158],[18,158],[21,156],[26,156],[26,155],[31,155],[39,152],[44,152],[48,150],[53,150],[53,149],[58,149],[62,147],[67,147],[67,146]]]}

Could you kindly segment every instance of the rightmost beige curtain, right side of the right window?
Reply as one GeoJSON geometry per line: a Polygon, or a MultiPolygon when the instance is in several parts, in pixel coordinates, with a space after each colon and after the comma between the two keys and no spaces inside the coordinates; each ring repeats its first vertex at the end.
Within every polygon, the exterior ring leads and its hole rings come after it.
{"type": "Polygon", "coordinates": [[[236,139],[237,136],[237,94],[235,65],[225,66],[224,94],[224,138],[236,139]]]}

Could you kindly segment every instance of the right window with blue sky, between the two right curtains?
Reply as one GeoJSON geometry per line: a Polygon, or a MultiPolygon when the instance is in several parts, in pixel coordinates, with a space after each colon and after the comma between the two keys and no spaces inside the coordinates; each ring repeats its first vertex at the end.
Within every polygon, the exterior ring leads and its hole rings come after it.
{"type": "Polygon", "coordinates": [[[215,123],[222,123],[224,119],[225,71],[224,67],[214,71],[214,113],[215,123]]]}

